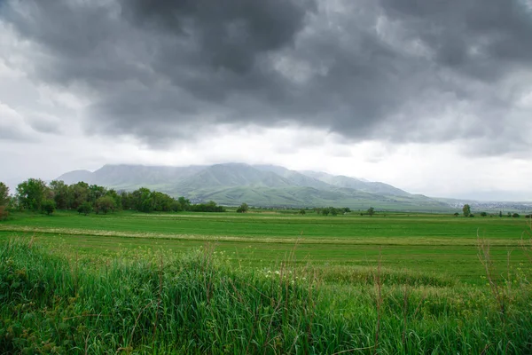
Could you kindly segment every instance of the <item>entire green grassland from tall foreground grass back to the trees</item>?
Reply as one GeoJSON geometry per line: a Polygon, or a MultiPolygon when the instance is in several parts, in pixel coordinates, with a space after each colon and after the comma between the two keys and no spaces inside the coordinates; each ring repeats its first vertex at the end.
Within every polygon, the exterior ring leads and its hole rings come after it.
{"type": "Polygon", "coordinates": [[[3,353],[532,353],[525,218],[13,214],[3,353]]]}

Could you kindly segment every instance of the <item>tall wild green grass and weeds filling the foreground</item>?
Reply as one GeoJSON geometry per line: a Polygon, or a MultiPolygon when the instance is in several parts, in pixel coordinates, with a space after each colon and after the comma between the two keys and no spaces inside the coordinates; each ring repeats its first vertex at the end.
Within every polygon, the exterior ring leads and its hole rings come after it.
{"type": "Polygon", "coordinates": [[[380,268],[332,282],[290,257],[235,269],[209,246],[97,262],[61,253],[0,245],[0,353],[532,353],[522,278],[502,319],[489,287],[380,268]]]}

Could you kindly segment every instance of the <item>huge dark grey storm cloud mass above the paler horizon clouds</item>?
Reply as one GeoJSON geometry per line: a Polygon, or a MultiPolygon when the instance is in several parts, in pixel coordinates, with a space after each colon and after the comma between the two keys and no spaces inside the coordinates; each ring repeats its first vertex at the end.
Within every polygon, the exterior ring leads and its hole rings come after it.
{"type": "Polygon", "coordinates": [[[0,16],[40,51],[27,70],[89,98],[90,132],[164,146],[219,123],[295,122],[497,145],[477,154],[530,147],[515,109],[532,70],[523,0],[7,4],[0,16]]]}

